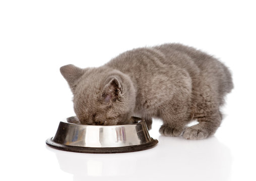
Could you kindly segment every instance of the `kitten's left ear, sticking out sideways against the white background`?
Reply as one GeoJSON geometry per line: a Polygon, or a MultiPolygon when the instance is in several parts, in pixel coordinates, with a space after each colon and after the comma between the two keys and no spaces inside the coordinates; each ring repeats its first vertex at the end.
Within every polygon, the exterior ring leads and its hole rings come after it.
{"type": "Polygon", "coordinates": [[[63,75],[63,77],[69,83],[72,91],[74,89],[76,80],[78,80],[85,73],[84,69],[76,67],[75,65],[72,65],[72,64],[62,66],[60,67],[59,70],[60,70],[60,73],[63,75]]]}

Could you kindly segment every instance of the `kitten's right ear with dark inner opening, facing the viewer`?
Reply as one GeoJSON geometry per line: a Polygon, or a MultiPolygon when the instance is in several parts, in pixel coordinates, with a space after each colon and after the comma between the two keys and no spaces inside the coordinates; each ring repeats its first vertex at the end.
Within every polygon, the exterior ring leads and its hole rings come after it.
{"type": "Polygon", "coordinates": [[[112,78],[103,88],[101,97],[106,103],[120,100],[122,96],[122,85],[117,78],[112,78]]]}

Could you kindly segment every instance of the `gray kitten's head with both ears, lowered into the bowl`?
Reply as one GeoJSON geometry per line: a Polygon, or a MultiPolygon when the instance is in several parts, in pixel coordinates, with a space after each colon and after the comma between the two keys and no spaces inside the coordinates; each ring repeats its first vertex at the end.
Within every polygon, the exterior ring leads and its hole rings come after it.
{"type": "Polygon", "coordinates": [[[65,65],[60,72],[68,81],[74,95],[74,110],[87,125],[128,124],[135,106],[129,88],[119,76],[106,76],[109,70],[81,69],[65,65]]]}

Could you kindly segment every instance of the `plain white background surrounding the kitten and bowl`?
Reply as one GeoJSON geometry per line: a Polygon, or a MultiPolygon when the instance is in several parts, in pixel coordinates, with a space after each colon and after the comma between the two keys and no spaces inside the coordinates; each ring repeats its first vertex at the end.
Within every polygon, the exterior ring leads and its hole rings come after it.
{"type": "Polygon", "coordinates": [[[0,1],[1,180],[256,180],[253,1],[0,1]],[[75,115],[59,67],[100,66],[132,48],[179,42],[220,58],[235,88],[214,137],[162,137],[134,153],[48,148],[75,115]]]}

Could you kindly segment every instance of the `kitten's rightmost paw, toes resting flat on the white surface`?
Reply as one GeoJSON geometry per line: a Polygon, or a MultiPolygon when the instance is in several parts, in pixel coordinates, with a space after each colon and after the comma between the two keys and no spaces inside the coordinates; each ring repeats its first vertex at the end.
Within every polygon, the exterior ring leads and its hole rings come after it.
{"type": "Polygon", "coordinates": [[[209,136],[209,133],[201,128],[197,127],[188,127],[185,129],[183,132],[182,137],[185,139],[190,139],[190,140],[200,140],[200,139],[205,139],[209,136]]]}

